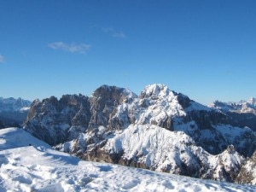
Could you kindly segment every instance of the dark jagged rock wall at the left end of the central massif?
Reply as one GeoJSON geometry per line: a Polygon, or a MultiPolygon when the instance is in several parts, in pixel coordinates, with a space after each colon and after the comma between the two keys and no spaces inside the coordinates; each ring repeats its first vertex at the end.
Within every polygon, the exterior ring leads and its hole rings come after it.
{"type": "Polygon", "coordinates": [[[78,137],[90,121],[90,105],[87,96],[66,95],[35,100],[27,115],[25,129],[33,136],[56,145],[78,137]]]}

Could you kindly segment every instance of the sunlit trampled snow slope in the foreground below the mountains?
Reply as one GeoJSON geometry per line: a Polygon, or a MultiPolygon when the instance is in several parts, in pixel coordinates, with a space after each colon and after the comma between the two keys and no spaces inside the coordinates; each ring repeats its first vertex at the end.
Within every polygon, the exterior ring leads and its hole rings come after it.
{"type": "Polygon", "coordinates": [[[256,191],[126,166],[79,160],[18,128],[0,130],[0,191],[256,191]]]}

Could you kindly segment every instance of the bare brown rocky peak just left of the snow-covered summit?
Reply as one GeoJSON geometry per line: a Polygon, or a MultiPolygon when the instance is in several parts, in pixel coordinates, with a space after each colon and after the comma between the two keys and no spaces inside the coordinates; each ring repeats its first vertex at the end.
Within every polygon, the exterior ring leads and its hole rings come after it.
{"type": "Polygon", "coordinates": [[[125,112],[119,112],[119,115],[123,115],[123,118],[119,119],[116,116],[118,107],[125,103],[131,103],[136,98],[137,95],[131,90],[102,85],[90,97],[91,117],[88,129],[93,130],[101,125],[107,127],[108,130],[122,129],[125,125],[131,123],[131,120],[129,120],[126,110],[125,112]]]}

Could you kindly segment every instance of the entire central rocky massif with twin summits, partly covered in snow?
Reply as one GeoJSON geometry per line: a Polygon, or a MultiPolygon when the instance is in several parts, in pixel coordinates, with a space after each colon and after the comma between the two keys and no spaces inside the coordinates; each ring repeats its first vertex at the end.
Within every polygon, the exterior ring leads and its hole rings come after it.
{"type": "Polygon", "coordinates": [[[102,85],[92,96],[32,102],[24,129],[84,160],[233,182],[256,148],[255,131],[164,84],[102,85]]]}

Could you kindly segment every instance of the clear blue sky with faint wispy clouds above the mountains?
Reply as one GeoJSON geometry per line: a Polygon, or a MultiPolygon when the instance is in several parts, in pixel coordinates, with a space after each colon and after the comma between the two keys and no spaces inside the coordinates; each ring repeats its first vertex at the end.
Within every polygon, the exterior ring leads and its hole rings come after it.
{"type": "Polygon", "coordinates": [[[256,1],[3,0],[0,96],[166,84],[197,102],[256,96],[256,1]]]}

